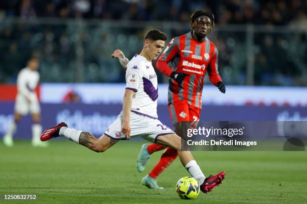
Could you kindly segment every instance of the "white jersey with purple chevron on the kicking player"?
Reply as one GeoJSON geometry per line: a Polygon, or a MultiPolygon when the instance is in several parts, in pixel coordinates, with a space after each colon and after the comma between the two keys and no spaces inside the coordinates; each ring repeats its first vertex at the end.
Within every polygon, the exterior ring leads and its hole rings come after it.
{"type": "Polygon", "coordinates": [[[135,91],[132,97],[131,111],[158,118],[157,98],[158,80],[151,61],[135,54],[126,69],[126,89],[135,91]]]}

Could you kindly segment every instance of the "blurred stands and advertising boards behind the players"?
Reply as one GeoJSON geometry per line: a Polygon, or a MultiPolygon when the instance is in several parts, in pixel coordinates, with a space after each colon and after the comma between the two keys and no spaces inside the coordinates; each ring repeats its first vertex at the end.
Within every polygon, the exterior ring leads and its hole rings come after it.
{"type": "MultiPolygon", "coordinates": [[[[121,109],[124,70],[146,30],[168,41],[189,31],[193,11],[211,10],[221,94],[206,78],[202,120],[307,120],[306,0],[10,0],[0,2],[0,135],[13,119],[18,71],[40,58],[42,125],[67,121],[100,135],[121,109]]],[[[172,126],[168,78],[157,71],[160,119],[172,126]]],[[[15,138],[30,138],[31,118],[15,138]]]]}

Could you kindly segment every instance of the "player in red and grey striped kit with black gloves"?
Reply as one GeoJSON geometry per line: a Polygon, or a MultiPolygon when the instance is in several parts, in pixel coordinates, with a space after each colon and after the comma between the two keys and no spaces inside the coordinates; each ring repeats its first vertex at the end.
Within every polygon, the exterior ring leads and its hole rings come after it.
{"type": "MultiPolygon", "coordinates": [[[[202,90],[206,71],[213,85],[225,93],[225,84],[218,72],[217,47],[206,37],[214,27],[214,15],[209,11],[196,11],[191,16],[191,31],[174,37],[164,53],[157,61],[157,68],[170,77],[169,79],[169,110],[176,134],[181,135],[182,122],[190,121],[192,128],[196,127],[202,107],[202,90]],[[174,71],[175,70],[175,71],[174,71]]],[[[122,66],[127,58],[121,50],[115,50],[122,66]]],[[[137,158],[137,170],[145,169],[150,154],[166,148],[163,145],[143,144],[137,158]]],[[[161,159],[152,170],[142,178],[142,184],[154,189],[163,189],[157,184],[157,177],[178,156],[178,153],[167,147],[161,159]]]]}

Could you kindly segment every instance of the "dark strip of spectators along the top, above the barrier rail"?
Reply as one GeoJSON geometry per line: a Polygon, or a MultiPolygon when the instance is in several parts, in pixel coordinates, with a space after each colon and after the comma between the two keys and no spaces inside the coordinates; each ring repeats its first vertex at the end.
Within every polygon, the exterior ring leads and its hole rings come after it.
{"type": "Polygon", "coordinates": [[[283,25],[306,22],[306,0],[6,0],[3,16],[189,21],[193,11],[211,10],[218,24],[283,25]]]}

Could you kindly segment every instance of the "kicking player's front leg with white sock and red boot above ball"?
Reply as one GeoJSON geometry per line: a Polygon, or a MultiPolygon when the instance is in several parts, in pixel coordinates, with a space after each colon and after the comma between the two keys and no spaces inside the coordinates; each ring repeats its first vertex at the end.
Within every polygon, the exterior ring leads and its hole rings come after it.
{"type": "Polygon", "coordinates": [[[177,150],[180,160],[185,168],[190,172],[192,177],[194,177],[200,184],[200,188],[204,193],[210,192],[214,187],[219,186],[225,178],[225,171],[220,172],[219,174],[209,177],[205,177],[204,173],[200,169],[196,160],[194,159],[191,151],[181,150],[181,140],[182,138],[177,134],[166,134],[158,136],[157,143],[162,145],[168,145],[173,149],[177,150]]]}

